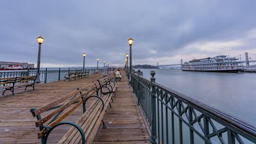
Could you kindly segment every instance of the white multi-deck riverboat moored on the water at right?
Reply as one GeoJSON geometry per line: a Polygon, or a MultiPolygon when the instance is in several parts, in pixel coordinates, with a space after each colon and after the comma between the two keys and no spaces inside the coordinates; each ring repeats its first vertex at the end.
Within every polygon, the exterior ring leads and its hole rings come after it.
{"type": "Polygon", "coordinates": [[[243,62],[238,58],[220,55],[182,63],[181,69],[187,71],[214,71],[214,72],[235,72],[243,70],[243,62]]]}

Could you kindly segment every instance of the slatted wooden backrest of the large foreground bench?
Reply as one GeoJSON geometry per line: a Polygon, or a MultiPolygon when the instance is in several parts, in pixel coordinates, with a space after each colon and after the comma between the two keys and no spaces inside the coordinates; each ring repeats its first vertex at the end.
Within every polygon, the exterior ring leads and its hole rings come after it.
{"type": "MultiPolygon", "coordinates": [[[[104,81],[104,79],[108,79],[108,77],[104,77],[100,79],[100,81],[104,81]]],[[[46,131],[48,130],[45,128],[44,124],[46,124],[46,127],[52,127],[53,125],[61,122],[64,118],[66,118],[71,112],[73,112],[77,107],[86,100],[87,97],[90,97],[95,92],[97,92],[98,88],[100,88],[100,85],[98,82],[90,83],[89,85],[78,89],[77,91],[74,91],[65,97],[53,101],[53,103],[50,103],[48,105],[45,105],[43,107],[40,107],[39,109],[33,108],[31,109],[31,113],[33,117],[37,117],[36,127],[39,127],[40,132],[38,133],[38,138],[42,138],[46,131]],[[74,105],[73,105],[74,104],[74,105]],[[73,105],[72,107],[70,107],[73,105]],[[70,109],[68,109],[70,107],[70,109]],[[55,110],[56,109],[56,110],[55,110]],[[49,113],[48,115],[41,117],[41,114],[45,111],[54,110],[53,112],[49,113]],[[62,115],[61,113],[65,111],[62,115]]]]}

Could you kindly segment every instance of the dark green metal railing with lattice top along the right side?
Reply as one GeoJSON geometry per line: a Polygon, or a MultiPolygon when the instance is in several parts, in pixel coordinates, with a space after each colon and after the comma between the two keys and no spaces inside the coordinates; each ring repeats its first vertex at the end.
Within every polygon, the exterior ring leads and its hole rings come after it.
{"type": "Polygon", "coordinates": [[[256,143],[255,125],[159,85],[150,74],[150,80],[130,75],[152,143],[256,143]]]}

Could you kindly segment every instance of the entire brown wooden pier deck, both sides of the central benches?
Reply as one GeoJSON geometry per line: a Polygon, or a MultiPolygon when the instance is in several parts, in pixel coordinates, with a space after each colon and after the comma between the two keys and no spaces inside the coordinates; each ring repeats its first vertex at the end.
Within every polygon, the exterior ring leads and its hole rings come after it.
{"type": "MultiPolygon", "coordinates": [[[[124,81],[118,82],[113,108],[108,108],[103,119],[107,129],[98,128],[94,143],[149,143],[149,132],[143,116],[136,105],[128,80],[122,71],[124,81]]],[[[102,74],[94,74],[75,81],[55,81],[36,84],[35,91],[15,89],[15,95],[0,96],[0,143],[40,143],[30,109],[51,103],[75,89],[100,79],[102,74]]],[[[75,110],[66,121],[77,121],[82,115],[82,106],[75,110]]],[[[56,143],[68,131],[61,127],[53,131],[49,143],[56,143]]]]}

